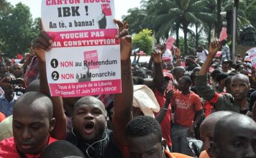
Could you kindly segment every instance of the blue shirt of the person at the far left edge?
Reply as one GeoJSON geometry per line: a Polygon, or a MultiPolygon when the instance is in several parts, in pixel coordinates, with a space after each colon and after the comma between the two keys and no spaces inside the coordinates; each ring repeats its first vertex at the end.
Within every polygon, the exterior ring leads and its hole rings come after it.
{"type": "Polygon", "coordinates": [[[14,108],[15,101],[16,101],[15,96],[10,103],[4,96],[0,96],[0,111],[1,111],[1,113],[4,113],[4,115],[6,117],[12,115],[12,109],[14,108]]]}

